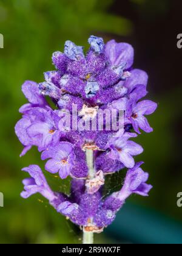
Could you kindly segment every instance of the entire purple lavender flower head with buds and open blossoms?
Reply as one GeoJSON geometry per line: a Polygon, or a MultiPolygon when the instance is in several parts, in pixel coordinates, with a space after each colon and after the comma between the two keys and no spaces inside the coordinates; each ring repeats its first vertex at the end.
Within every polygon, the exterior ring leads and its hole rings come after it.
{"type": "Polygon", "coordinates": [[[148,196],[149,174],[141,169],[143,162],[135,163],[133,157],[143,148],[133,141],[141,131],[152,132],[146,115],[157,108],[155,102],[143,99],[147,94],[147,74],[133,69],[133,48],[127,43],[111,40],[104,44],[102,38],[91,36],[90,48],[66,41],[64,53],[54,52],[55,71],[44,73],[44,82],[26,81],[22,92],[29,103],[19,112],[22,118],[15,127],[16,135],[24,149],[38,147],[45,170],[61,179],[72,177],[70,194],[52,191],[37,165],[23,171],[29,178],[23,180],[27,198],[40,193],[49,200],[57,212],[85,232],[101,232],[115,219],[131,194],[148,196]],[[55,108],[46,101],[52,99],[55,108]],[[67,111],[72,116],[72,106],[78,108],[77,120],[93,119],[99,109],[115,108],[124,112],[123,130],[73,130],[62,129],[62,119],[67,111]],[[90,176],[86,153],[93,151],[93,175],[90,176]],[[103,197],[105,176],[127,168],[121,190],[103,197]]]}

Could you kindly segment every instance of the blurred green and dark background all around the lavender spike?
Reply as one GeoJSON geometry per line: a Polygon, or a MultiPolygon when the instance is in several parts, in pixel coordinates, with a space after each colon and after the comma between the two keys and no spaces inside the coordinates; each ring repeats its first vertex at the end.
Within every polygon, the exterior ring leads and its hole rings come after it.
{"type": "MultiPolygon", "coordinates": [[[[127,41],[135,48],[134,67],[149,73],[149,98],[158,102],[149,117],[154,132],[137,141],[144,147],[144,169],[153,190],[148,198],[132,196],[112,226],[96,243],[182,243],[181,168],[181,60],[177,35],[182,33],[181,1],[177,0],[0,0],[0,243],[81,243],[81,232],[38,195],[21,199],[21,168],[38,164],[33,149],[19,158],[22,146],[14,133],[26,102],[21,93],[24,80],[43,80],[52,70],[51,56],[62,51],[64,41],[88,47],[91,34],[105,41],[127,41]]],[[[47,174],[58,190],[69,191],[67,182],[47,174]]],[[[123,174],[108,180],[121,185],[123,174]]]]}

